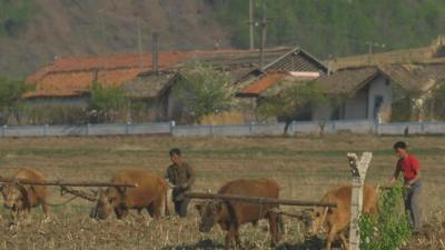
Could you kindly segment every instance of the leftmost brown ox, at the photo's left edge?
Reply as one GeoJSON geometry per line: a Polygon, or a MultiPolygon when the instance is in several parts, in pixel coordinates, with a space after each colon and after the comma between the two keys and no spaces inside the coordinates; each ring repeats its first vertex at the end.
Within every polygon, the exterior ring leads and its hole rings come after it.
{"type": "MultiPolygon", "coordinates": [[[[31,169],[19,170],[14,178],[32,181],[44,181],[43,174],[31,169]]],[[[31,208],[41,206],[46,217],[49,216],[48,193],[44,186],[21,184],[20,182],[8,182],[1,187],[4,207],[11,209],[12,219],[19,219],[21,212],[29,217],[31,208]]]]}

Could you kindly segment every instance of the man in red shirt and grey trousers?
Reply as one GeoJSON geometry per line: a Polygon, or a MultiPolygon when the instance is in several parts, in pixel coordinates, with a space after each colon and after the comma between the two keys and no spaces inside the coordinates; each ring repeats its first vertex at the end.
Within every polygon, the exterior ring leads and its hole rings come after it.
{"type": "Polygon", "coordinates": [[[389,183],[394,184],[399,173],[404,173],[404,183],[406,189],[405,209],[409,212],[408,217],[412,227],[415,231],[418,231],[422,226],[419,209],[419,198],[422,191],[421,164],[418,163],[418,160],[407,151],[407,144],[405,142],[396,142],[394,144],[394,150],[398,157],[398,161],[389,183]]]}

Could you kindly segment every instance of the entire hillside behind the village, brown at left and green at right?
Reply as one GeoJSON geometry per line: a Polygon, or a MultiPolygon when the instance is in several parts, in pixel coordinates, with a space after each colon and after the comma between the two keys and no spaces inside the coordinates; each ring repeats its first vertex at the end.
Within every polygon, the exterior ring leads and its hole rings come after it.
{"type": "MultiPolygon", "coordinates": [[[[247,48],[248,0],[0,0],[0,76],[22,77],[65,54],[247,48]]],[[[260,0],[254,0],[255,19],[260,0]]],[[[429,46],[443,0],[267,0],[267,46],[299,44],[322,59],[429,46]],[[382,44],[385,44],[382,48],[382,44]]],[[[259,43],[256,28],[256,46],[259,43]]]]}

